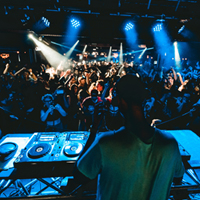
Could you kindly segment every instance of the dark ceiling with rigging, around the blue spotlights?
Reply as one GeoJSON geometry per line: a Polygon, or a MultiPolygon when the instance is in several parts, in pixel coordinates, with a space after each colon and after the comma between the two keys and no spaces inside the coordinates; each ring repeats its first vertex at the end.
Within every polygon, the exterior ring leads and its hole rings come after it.
{"type": "Polygon", "coordinates": [[[200,35],[199,0],[1,0],[0,33],[6,38],[1,37],[1,44],[20,41],[12,34],[32,30],[42,16],[51,24],[37,34],[60,43],[71,16],[78,16],[82,23],[79,33],[82,44],[119,44],[125,39],[122,29],[127,19],[138,24],[140,43],[151,43],[149,29],[159,19],[165,20],[174,39],[184,40],[178,35],[183,24],[198,36],[193,41],[198,42],[200,35]],[[30,18],[24,22],[25,15],[30,18]]]}

